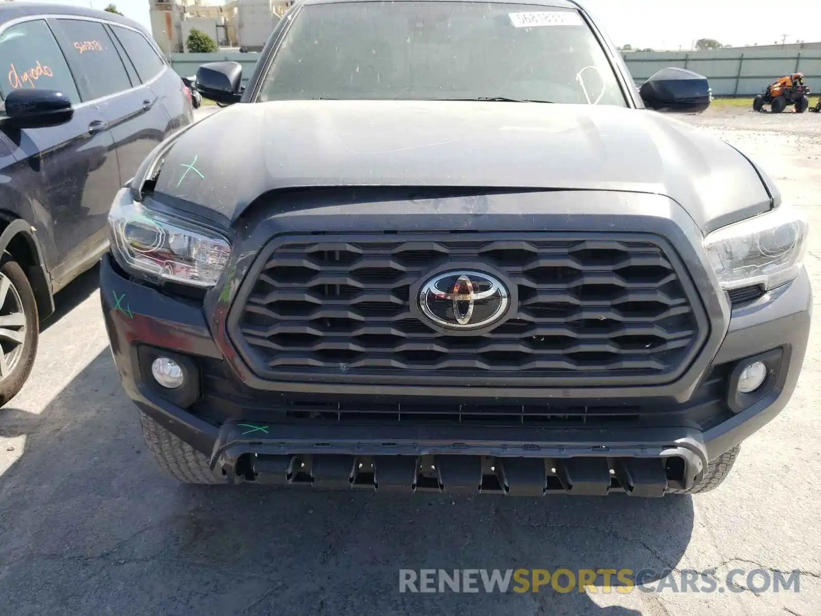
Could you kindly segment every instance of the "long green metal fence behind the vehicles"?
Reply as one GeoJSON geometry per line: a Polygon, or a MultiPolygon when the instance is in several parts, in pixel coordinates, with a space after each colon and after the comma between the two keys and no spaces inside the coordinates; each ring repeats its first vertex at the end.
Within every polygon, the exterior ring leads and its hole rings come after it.
{"type": "MultiPolygon", "coordinates": [[[[257,53],[172,53],[174,70],[194,75],[200,64],[231,60],[242,65],[246,83],[257,62],[257,53]]],[[[821,94],[821,51],[737,52],[716,49],[701,52],[631,52],[624,54],[635,81],[643,81],[665,67],[681,67],[707,77],[713,96],[754,96],[777,77],[802,72],[805,83],[821,94]]]]}

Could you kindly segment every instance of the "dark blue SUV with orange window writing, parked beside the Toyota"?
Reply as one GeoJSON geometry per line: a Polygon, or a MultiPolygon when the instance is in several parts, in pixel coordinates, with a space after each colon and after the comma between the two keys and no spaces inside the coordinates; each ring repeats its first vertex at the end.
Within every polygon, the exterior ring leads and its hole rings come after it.
{"type": "Polygon", "coordinates": [[[0,6],[0,404],[25,383],[53,294],[108,248],[112,196],[192,120],[145,30],[109,12],[0,6]]]}

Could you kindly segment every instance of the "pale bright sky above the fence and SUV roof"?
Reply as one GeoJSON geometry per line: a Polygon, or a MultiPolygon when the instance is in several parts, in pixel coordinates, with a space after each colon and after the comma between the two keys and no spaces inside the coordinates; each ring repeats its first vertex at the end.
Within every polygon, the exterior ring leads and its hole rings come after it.
{"type": "MultiPolygon", "coordinates": [[[[54,0],[52,0],[54,1],[54,0]]],[[[102,9],[111,0],[57,0],[102,9]]],[[[113,0],[149,28],[148,0],[113,0]]],[[[735,46],[821,40],[821,0],[581,0],[617,45],[689,49],[696,39],[735,46]]],[[[209,3],[218,3],[211,0],[209,3]]]]}

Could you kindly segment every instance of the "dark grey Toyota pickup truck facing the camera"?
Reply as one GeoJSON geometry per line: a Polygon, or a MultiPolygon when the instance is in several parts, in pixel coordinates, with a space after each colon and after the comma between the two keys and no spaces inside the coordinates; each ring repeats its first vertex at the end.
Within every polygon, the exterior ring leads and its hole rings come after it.
{"type": "Polygon", "coordinates": [[[117,195],[103,314],[200,483],[710,490],[805,354],[806,222],[569,0],[305,0],[117,195]],[[351,36],[351,32],[357,32],[351,36]],[[223,154],[222,144],[232,144],[223,154]]]}

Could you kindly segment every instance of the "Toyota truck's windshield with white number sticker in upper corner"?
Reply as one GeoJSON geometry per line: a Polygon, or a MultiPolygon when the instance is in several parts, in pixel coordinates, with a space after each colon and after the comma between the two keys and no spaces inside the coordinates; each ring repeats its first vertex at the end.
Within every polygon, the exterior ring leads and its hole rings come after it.
{"type": "Polygon", "coordinates": [[[257,101],[532,100],[626,106],[575,10],[496,2],[332,2],[296,13],[257,101]]]}

